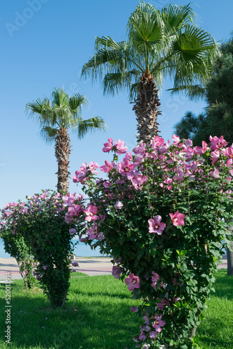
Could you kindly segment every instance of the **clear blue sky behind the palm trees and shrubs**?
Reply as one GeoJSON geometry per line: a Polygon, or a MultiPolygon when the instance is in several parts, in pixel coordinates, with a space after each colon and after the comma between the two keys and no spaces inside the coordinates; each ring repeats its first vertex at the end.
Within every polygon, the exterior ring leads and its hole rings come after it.
{"type": "MultiPolygon", "coordinates": [[[[7,202],[24,200],[25,195],[55,189],[57,162],[54,147],[38,136],[38,125],[24,113],[26,103],[50,97],[54,87],[64,87],[69,94],[87,96],[90,105],[84,119],[100,116],[109,129],[106,133],[87,135],[73,145],[70,172],[82,162],[105,160],[103,142],[111,137],[135,146],[136,121],[127,94],[106,98],[100,84],[80,80],[80,70],[93,53],[95,36],[126,38],[126,23],[135,10],[135,0],[10,0],[3,1],[0,15],[1,36],[1,128],[0,128],[0,208],[7,202]]],[[[185,5],[189,1],[177,0],[185,5]]],[[[157,8],[169,1],[150,1],[157,8]]],[[[232,31],[233,2],[196,0],[193,8],[202,29],[216,40],[228,40],[232,31]]],[[[160,131],[166,140],[172,127],[187,110],[201,112],[204,102],[190,103],[183,96],[161,94],[160,131]]],[[[78,191],[70,180],[70,191],[78,191]]]]}

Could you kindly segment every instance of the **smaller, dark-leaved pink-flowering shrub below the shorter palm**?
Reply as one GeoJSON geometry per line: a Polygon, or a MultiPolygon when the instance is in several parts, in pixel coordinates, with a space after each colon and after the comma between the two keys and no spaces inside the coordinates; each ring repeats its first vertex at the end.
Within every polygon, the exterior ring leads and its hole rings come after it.
{"type": "Polygon", "coordinates": [[[65,214],[60,194],[45,191],[33,198],[28,196],[27,202],[6,205],[1,217],[1,232],[8,230],[15,246],[24,239],[36,259],[34,275],[40,281],[40,288],[52,306],[59,307],[66,302],[70,277],[68,256],[73,251],[65,214]]]}

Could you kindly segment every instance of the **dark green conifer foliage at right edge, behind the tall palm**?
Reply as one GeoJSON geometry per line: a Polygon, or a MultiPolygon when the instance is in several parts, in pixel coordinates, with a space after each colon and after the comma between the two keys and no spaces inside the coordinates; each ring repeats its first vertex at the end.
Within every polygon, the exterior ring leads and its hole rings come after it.
{"type": "Polygon", "coordinates": [[[227,142],[233,142],[233,38],[220,47],[220,55],[213,64],[213,74],[205,84],[207,107],[203,114],[187,112],[174,126],[180,138],[190,138],[200,146],[208,142],[209,135],[224,135],[227,142]]]}

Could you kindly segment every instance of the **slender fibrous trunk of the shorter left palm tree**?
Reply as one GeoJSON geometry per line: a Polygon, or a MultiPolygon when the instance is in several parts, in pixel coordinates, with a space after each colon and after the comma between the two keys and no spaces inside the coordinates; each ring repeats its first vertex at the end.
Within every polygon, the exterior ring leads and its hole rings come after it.
{"type": "Polygon", "coordinates": [[[70,172],[69,168],[69,156],[70,156],[70,137],[66,128],[60,128],[56,136],[55,144],[55,156],[58,163],[57,174],[57,191],[59,193],[68,191],[68,178],[70,172]]]}

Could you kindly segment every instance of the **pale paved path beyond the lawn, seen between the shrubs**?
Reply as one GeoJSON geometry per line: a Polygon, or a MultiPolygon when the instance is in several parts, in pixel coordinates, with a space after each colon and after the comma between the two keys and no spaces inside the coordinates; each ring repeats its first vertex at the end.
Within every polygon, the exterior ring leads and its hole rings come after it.
{"type": "MultiPolygon", "coordinates": [[[[95,275],[111,275],[112,274],[112,258],[82,258],[76,257],[72,262],[78,262],[80,267],[73,267],[77,272],[95,275]]],[[[223,257],[223,263],[218,264],[218,269],[227,268],[227,259],[223,257]]],[[[0,280],[4,280],[6,272],[10,272],[11,279],[22,279],[19,267],[15,258],[0,258],[0,280]]]]}

